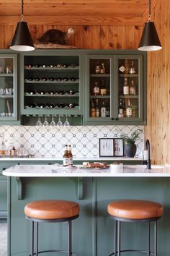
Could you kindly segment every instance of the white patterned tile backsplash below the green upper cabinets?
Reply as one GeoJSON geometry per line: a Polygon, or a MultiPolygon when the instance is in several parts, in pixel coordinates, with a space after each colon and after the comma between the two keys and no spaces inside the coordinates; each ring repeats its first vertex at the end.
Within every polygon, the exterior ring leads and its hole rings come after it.
{"type": "MultiPolygon", "coordinates": [[[[73,157],[98,158],[99,138],[119,138],[121,134],[130,135],[141,126],[79,126],[79,127],[24,127],[0,126],[4,133],[6,147],[24,148],[37,158],[62,158],[63,146],[71,144],[73,157]]],[[[144,148],[144,134],[136,142],[137,153],[144,148]]]]}

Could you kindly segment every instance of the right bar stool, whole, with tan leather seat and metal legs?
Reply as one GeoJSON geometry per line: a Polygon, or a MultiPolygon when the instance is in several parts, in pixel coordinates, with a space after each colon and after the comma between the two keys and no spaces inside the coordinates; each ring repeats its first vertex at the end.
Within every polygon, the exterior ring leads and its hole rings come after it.
{"type": "Polygon", "coordinates": [[[111,255],[120,256],[121,252],[143,252],[148,256],[157,254],[157,220],[161,218],[163,207],[158,202],[146,200],[117,200],[107,205],[109,217],[115,220],[115,252],[111,255]],[[121,249],[120,223],[121,222],[147,222],[148,223],[148,250],[121,249]],[[150,249],[150,223],[154,223],[154,253],[150,249]],[[118,239],[117,239],[118,236],[118,239]],[[117,241],[118,240],[118,241],[117,241]],[[118,248],[117,248],[118,244],[118,248]]]}

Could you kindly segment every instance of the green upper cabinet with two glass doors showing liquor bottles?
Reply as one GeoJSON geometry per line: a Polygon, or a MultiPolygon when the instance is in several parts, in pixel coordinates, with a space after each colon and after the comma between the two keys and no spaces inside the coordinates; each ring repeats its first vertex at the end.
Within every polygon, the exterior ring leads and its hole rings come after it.
{"type": "Polygon", "coordinates": [[[84,124],[146,123],[146,53],[86,54],[84,124]]]}

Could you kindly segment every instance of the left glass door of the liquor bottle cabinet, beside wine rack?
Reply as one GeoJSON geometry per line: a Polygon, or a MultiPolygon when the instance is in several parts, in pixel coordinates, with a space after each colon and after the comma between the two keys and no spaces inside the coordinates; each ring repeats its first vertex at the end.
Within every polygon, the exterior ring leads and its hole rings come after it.
{"type": "Polygon", "coordinates": [[[109,56],[87,56],[86,119],[88,121],[109,120],[113,115],[111,104],[111,66],[109,56]]]}

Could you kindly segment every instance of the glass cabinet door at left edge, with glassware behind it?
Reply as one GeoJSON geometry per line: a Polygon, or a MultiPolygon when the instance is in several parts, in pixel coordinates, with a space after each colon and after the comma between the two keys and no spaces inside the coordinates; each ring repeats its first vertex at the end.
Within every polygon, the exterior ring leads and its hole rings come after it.
{"type": "Polygon", "coordinates": [[[0,121],[17,120],[17,55],[0,54],[0,121]]]}

